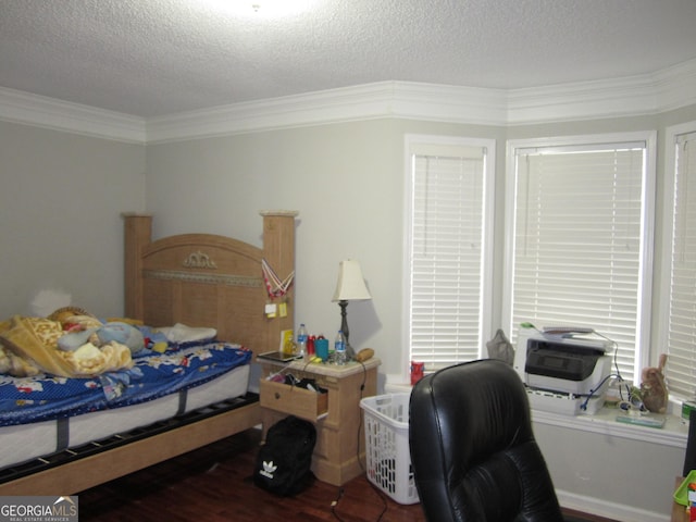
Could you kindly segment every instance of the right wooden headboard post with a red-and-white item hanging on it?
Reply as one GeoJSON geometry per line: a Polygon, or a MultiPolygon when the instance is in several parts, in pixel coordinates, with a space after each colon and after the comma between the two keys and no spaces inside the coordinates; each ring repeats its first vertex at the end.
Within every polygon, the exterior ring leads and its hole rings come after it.
{"type": "MultiPolygon", "coordinates": [[[[295,217],[296,211],[262,211],[263,216],[263,258],[283,279],[295,271],[295,217]]],[[[278,343],[283,330],[294,328],[295,318],[295,285],[287,295],[287,315],[276,316],[269,321],[271,343],[278,343]]],[[[277,345],[276,345],[277,346],[277,345]]],[[[273,346],[268,349],[273,349],[273,346]]]]}

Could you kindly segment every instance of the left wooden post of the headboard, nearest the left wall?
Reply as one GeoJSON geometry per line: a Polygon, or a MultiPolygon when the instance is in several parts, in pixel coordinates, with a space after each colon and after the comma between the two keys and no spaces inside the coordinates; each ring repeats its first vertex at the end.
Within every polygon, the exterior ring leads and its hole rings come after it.
{"type": "Polygon", "coordinates": [[[123,213],[125,237],[125,316],[144,319],[142,309],[142,248],[152,236],[152,215],[123,213]]]}

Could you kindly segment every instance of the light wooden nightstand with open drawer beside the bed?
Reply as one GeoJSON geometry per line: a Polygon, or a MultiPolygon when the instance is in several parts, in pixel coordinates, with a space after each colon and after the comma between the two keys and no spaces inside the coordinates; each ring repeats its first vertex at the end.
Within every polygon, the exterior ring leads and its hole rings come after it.
{"type": "Polygon", "coordinates": [[[373,357],[363,364],[351,361],[344,366],[262,359],[258,359],[258,362],[262,369],[260,402],[263,438],[269,427],[284,417],[301,417],[316,426],[316,446],[312,457],[312,472],[316,478],[340,486],[363,473],[365,439],[360,399],[376,395],[377,366],[382,361],[373,357]],[[298,380],[313,378],[321,388],[327,390],[325,414],[319,412],[319,418],[315,414],[318,394],[265,380],[283,369],[283,373],[291,373],[298,380]]]}

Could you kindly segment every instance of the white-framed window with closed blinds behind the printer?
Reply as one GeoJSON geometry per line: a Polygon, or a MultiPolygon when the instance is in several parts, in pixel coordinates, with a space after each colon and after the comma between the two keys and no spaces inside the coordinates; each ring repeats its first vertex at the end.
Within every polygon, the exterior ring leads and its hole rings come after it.
{"type": "Polygon", "coordinates": [[[655,133],[511,141],[504,323],[589,326],[647,362],[655,133]]]}

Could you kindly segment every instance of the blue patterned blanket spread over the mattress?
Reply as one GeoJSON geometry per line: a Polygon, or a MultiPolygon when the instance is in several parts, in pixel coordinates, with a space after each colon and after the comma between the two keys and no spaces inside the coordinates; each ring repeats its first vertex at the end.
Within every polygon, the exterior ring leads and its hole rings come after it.
{"type": "Polygon", "coordinates": [[[74,417],[147,400],[199,386],[251,361],[239,345],[201,341],[144,349],[127,371],[90,378],[0,375],[0,426],[74,417]]]}

